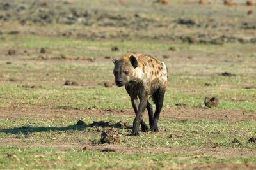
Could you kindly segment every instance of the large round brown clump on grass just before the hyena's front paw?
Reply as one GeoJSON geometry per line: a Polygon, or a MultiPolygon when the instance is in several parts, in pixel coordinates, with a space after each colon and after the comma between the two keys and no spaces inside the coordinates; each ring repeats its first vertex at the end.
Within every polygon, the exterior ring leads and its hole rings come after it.
{"type": "Polygon", "coordinates": [[[102,131],[100,142],[118,144],[120,143],[120,137],[116,129],[108,128],[102,131]]]}

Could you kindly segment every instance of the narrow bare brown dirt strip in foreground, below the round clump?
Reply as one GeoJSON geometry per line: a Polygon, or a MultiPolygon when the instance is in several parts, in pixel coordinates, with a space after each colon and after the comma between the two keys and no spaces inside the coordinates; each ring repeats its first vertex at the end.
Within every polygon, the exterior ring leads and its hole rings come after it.
{"type": "Polygon", "coordinates": [[[182,152],[182,153],[204,153],[209,155],[216,155],[220,158],[227,158],[227,157],[241,157],[241,156],[250,156],[256,152],[255,149],[246,148],[212,148],[212,147],[204,147],[204,148],[191,148],[186,146],[176,146],[174,148],[145,148],[145,147],[134,147],[134,146],[125,146],[125,145],[116,145],[116,144],[109,144],[109,145],[88,145],[87,143],[79,142],[79,143],[65,143],[65,142],[51,142],[51,146],[47,143],[26,143],[24,141],[20,141],[20,139],[15,138],[3,138],[0,140],[0,145],[5,146],[8,145],[12,146],[19,146],[19,147],[54,147],[59,149],[65,148],[86,148],[86,150],[104,150],[106,148],[116,150],[118,153],[136,153],[136,152],[154,152],[154,153],[161,153],[161,152],[182,152]]]}

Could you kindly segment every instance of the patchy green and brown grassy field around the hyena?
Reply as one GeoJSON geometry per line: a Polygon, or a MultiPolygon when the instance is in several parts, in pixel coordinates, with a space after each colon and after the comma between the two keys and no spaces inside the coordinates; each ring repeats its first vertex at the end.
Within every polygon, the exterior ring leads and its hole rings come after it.
{"type": "Polygon", "coordinates": [[[255,6],[24,2],[0,2],[0,169],[256,168],[255,6]],[[127,51],[168,67],[159,132],[129,136],[110,59],[127,51]],[[120,143],[100,143],[108,128],[120,143]]]}

